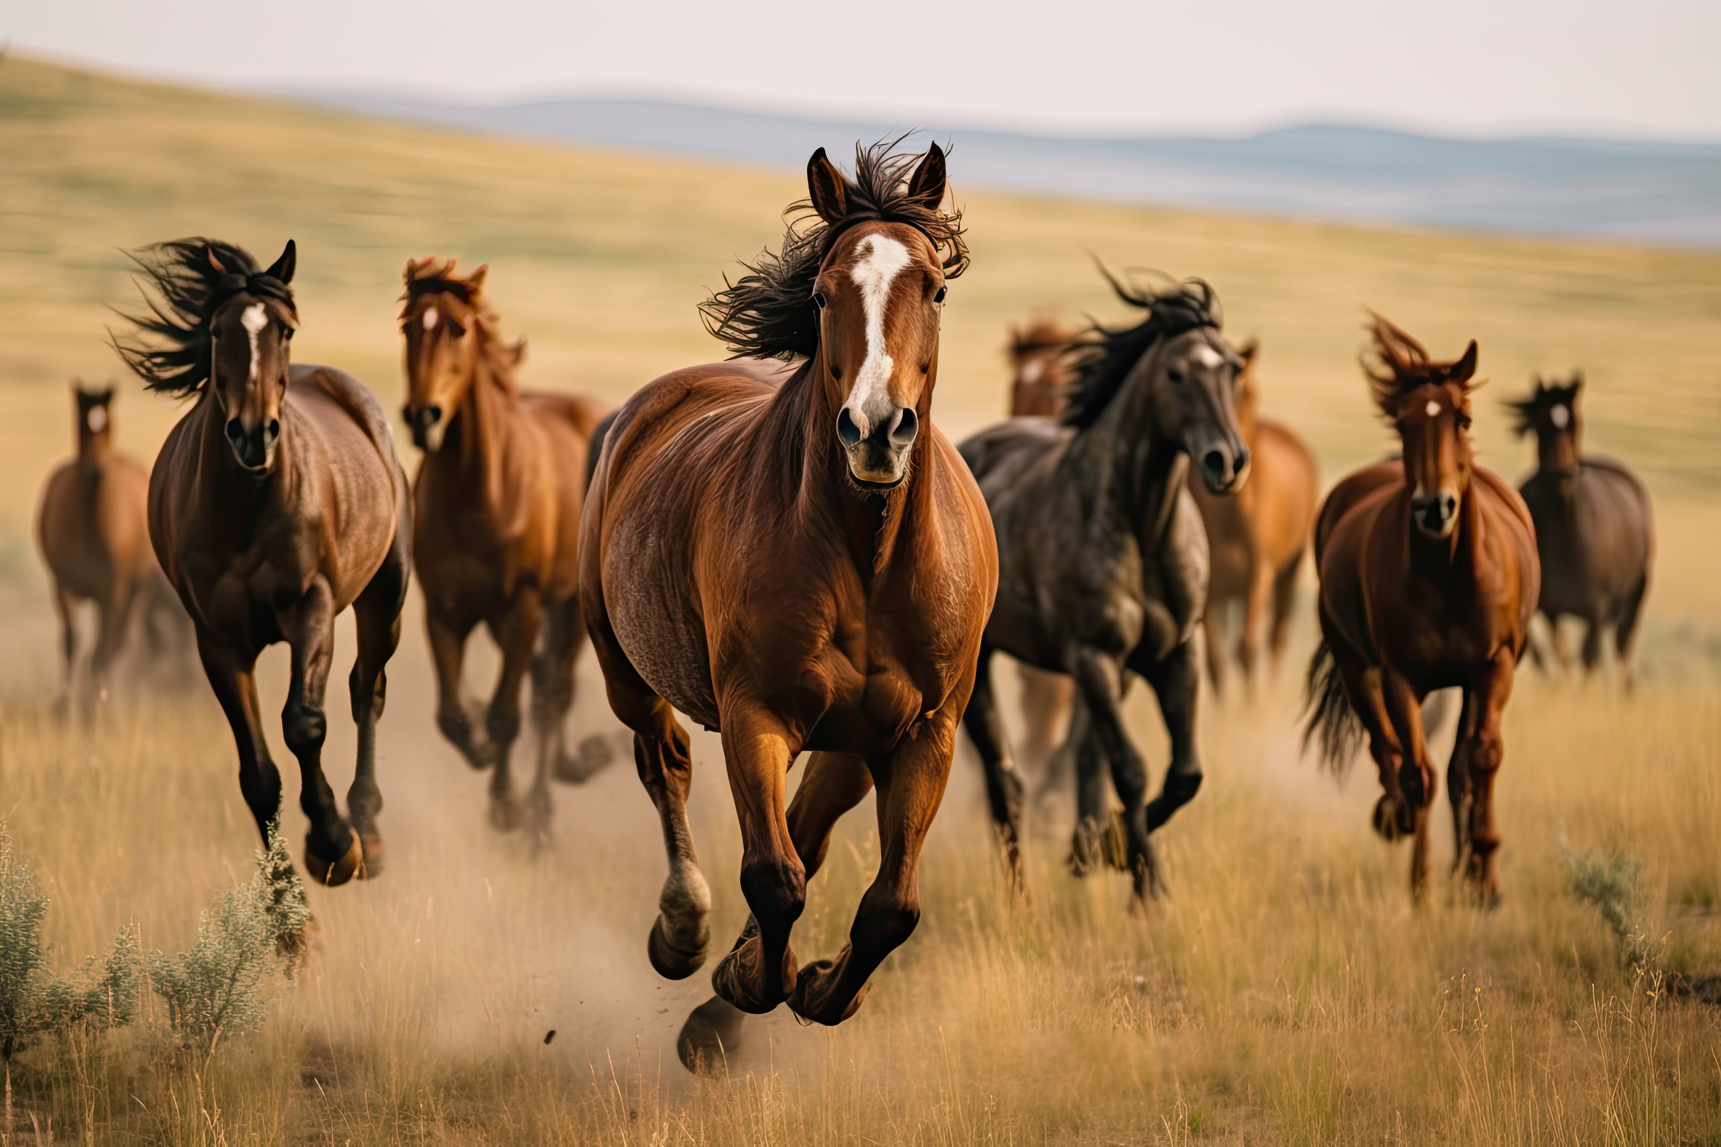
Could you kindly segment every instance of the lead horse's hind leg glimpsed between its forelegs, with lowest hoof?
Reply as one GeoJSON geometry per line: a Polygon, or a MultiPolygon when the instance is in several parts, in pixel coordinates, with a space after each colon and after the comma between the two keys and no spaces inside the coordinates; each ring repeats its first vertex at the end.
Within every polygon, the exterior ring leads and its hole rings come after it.
{"type": "MultiPolygon", "coordinates": [[[[873,774],[866,760],[855,753],[809,753],[807,769],[788,803],[788,836],[795,841],[795,855],[807,870],[807,880],[824,863],[831,848],[831,829],[850,808],[873,791],[873,774]]],[[[759,930],[749,917],[735,948],[745,944],[759,930]]],[[[721,996],[712,996],[694,1008],[675,1040],[676,1054],[688,1071],[707,1073],[728,1052],[740,1047],[742,1021],[747,1013],[737,1009],[721,996]]]]}

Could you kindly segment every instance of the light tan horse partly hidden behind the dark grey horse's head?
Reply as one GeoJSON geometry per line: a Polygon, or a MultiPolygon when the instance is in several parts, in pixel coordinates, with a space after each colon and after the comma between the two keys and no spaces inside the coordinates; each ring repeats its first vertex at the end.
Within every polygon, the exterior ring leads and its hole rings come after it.
{"type": "Polygon", "coordinates": [[[1208,679],[1215,693],[1225,678],[1225,623],[1231,614],[1243,614],[1232,655],[1244,679],[1253,676],[1260,659],[1263,626],[1274,662],[1284,653],[1296,576],[1320,504],[1315,454],[1294,430],[1260,416],[1260,344],[1249,342],[1239,354],[1244,365],[1237,378],[1237,425],[1249,447],[1249,483],[1234,495],[1218,497],[1208,492],[1205,481],[1189,476],[1189,494],[1206,524],[1210,571],[1203,624],[1208,679]]]}

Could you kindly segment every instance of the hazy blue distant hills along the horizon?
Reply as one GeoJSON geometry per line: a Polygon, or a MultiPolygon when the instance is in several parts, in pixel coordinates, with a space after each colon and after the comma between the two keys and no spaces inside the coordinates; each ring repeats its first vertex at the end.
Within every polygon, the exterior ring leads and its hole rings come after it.
{"type": "MultiPolygon", "coordinates": [[[[761,165],[833,155],[902,126],[647,100],[465,105],[289,91],[363,115],[761,165]]],[[[1440,139],[1289,127],[1241,139],[1031,136],[950,126],[959,186],[1065,199],[1721,248],[1721,144],[1440,139]]]]}

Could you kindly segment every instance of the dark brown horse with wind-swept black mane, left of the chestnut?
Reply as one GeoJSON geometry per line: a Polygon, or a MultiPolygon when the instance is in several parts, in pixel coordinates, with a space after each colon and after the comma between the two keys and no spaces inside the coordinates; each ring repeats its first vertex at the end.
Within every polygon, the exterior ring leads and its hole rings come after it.
{"type": "Polygon", "coordinates": [[[411,549],[406,473],[387,416],[351,375],[289,363],[299,325],[291,239],[265,270],[217,239],[163,242],[133,258],[150,310],[129,316],[134,334],[114,346],[151,390],[194,399],[150,473],[150,540],[232,726],[239,791],[267,844],[281,772],[263,739],[255,666],[265,647],[286,641],[293,679],[281,724],[303,777],[305,868],[329,886],[375,877],[384,858],[377,719],[411,549]],[[348,679],[358,726],[351,824],[322,770],[334,619],[349,605],[358,631],[348,679]]]}

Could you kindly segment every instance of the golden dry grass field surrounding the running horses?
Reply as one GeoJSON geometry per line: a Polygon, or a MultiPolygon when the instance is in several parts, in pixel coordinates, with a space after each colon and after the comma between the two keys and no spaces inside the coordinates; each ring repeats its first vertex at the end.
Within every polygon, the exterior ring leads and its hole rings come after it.
{"type": "MultiPolygon", "coordinates": [[[[1497,399],[1533,370],[1585,368],[1588,447],[1630,461],[1657,497],[1640,688],[1625,698],[1609,681],[1520,678],[1499,781],[1501,910],[1453,905],[1444,886],[1413,910],[1408,850],[1368,831],[1370,770],[1335,786],[1298,758],[1301,617],[1275,683],[1206,707],[1206,784],[1160,834],[1163,905],[1138,918],[1120,877],[1069,877],[1067,812],[1052,810],[1031,855],[1034,899],[1012,906],[962,750],[922,865],[922,923],[860,1013],[816,1030],[780,1009],[750,1021],[726,1078],[694,1080],[673,1039],[709,987],[704,975],[663,982],[644,960],[663,856],[632,770],[558,788],[547,851],[496,837],[484,781],[432,726],[413,600],[379,743],[387,875],[312,889],[318,948],[262,1034],[165,1054],[165,1018],[148,1015],[115,1035],[48,1040],[12,1061],[15,1114],[0,1135],[1721,1144],[1721,256],[971,194],[955,143],[974,268],[947,310],[935,406],[947,433],[998,414],[1010,320],[1043,304],[1122,316],[1086,251],[1212,280],[1232,337],[1263,342],[1268,411],[1310,437],[1329,478],[1387,445],[1356,370],[1365,304],[1435,354],[1480,340],[1494,382],[1477,437],[1509,475],[1530,454],[1497,399]],[[1645,925],[1664,937],[1647,972],[1623,968],[1599,915],[1570,894],[1561,839],[1642,856],[1645,925]]],[[[126,922],[146,949],[182,949],[256,846],[227,729],[201,691],[120,705],[96,731],[50,717],[55,648],[29,516],[67,449],[67,378],[119,377],[102,339],[105,308],[136,299],[120,251],[210,234],[268,260],[296,237],[296,356],[355,371],[389,408],[401,265],[489,261],[506,330],[530,340],[527,382],[620,399],[719,353],[694,306],[737,256],[776,241],[802,189],[792,175],[367,124],[17,57],[0,60],[0,616],[12,638],[0,813],[52,894],[48,932],[69,968],[126,922]]],[[[119,440],[148,456],[179,408],[122,389],[119,440]]],[[[342,624],[337,671],[349,636],[342,624]]],[[[284,684],[274,650],[267,712],[284,684]]],[[[1134,731],[1158,767],[1163,733],[1141,693],[1134,731]]],[[[344,705],[330,712],[330,781],[344,789],[353,736],[344,705]]],[[[575,722],[616,727],[590,662],[575,722]]],[[[695,734],[695,762],[721,941],[745,915],[738,836],[714,736],[695,734]]],[[[1440,812],[1437,824],[1449,856],[1440,812]]],[[[294,848],[301,831],[289,801],[294,848]]],[[[842,942],[873,858],[857,813],[812,884],[802,961],[842,942]]]]}

